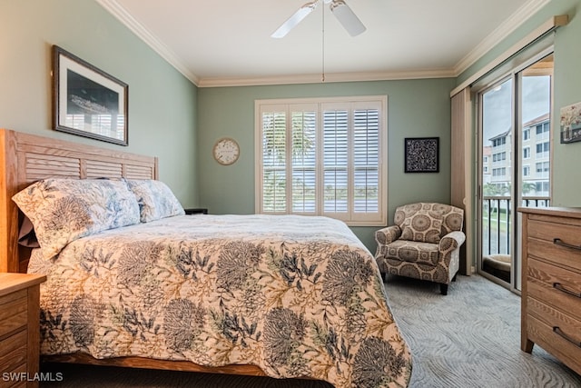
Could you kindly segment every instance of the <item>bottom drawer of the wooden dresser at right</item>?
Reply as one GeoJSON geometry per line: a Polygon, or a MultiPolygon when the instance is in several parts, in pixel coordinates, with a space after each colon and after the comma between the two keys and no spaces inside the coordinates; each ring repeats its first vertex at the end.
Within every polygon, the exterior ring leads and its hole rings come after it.
{"type": "Polygon", "coordinates": [[[581,374],[581,323],[535,299],[527,303],[528,338],[581,374]]]}

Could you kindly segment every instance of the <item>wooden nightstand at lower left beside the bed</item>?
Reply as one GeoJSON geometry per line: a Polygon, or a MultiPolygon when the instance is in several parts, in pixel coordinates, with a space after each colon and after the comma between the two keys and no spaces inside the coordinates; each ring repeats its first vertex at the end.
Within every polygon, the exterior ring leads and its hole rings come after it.
{"type": "Polygon", "coordinates": [[[0,385],[37,387],[44,275],[0,274],[0,385]]]}

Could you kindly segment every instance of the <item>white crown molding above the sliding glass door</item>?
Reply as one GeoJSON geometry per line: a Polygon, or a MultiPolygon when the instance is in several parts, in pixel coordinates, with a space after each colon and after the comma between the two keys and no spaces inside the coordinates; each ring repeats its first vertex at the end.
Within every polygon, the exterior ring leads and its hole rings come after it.
{"type": "Polygon", "coordinates": [[[551,0],[530,0],[522,5],[516,13],[511,15],[505,22],[497,27],[490,35],[480,42],[472,51],[454,66],[456,76],[461,75],[471,65],[474,65],[478,59],[486,55],[493,47],[502,42],[508,35],[514,32],[520,25],[523,25],[532,15],[550,3],[551,0]]]}

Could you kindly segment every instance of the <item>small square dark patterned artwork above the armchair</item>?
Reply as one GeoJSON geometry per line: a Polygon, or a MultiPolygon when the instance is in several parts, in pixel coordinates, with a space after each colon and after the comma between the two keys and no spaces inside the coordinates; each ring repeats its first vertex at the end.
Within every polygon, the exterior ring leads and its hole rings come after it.
{"type": "Polygon", "coordinates": [[[439,137],[407,137],[406,173],[438,173],[439,137]]]}

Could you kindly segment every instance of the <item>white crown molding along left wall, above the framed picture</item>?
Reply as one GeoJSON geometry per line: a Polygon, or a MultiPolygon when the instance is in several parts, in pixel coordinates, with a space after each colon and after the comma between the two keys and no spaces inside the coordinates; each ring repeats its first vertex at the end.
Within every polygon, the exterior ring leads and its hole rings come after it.
{"type": "Polygon", "coordinates": [[[119,5],[115,0],[95,0],[97,4],[103,6],[111,15],[115,16],[123,25],[129,28],[133,34],[137,35],[145,44],[153,48],[157,54],[162,56],[170,65],[176,68],[186,78],[192,81],[193,85],[197,85],[200,81],[196,75],[182,63],[180,58],[175,55],[172,50],[162,43],[155,35],[153,35],[147,28],[139,23],[132,15],[130,15],[122,5],[119,5]]]}

